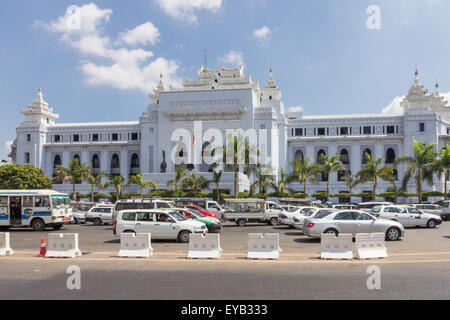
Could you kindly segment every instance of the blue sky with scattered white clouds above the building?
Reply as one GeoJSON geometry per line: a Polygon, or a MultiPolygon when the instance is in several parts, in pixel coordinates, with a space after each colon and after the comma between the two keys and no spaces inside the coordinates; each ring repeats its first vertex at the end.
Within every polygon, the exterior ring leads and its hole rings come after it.
{"type": "Polygon", "coordinates": [[[159,73],[196,77],[205,47],[208,67],[242,62],[260,86],[272,67],[286,107],[381,112],[416,65],[430,91],[450,92],[449,31],[446,0],[3,0],[0,159],[39,87],[59,122],[137,120],[159,73]],[[71,5],[81,25],[65,30],[71,5]]]}

